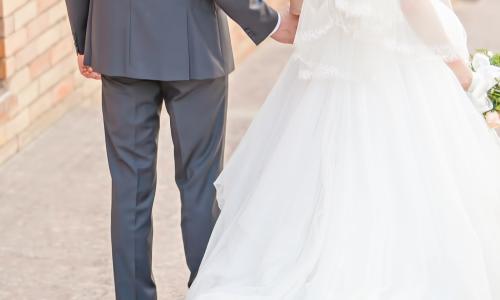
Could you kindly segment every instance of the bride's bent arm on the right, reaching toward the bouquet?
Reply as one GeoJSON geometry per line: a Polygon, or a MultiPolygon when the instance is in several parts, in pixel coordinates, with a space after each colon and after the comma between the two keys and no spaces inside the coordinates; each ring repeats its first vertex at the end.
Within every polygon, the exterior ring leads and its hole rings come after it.
{"type": "Polygon", "coordinates": [[[467,90],[472,82],[472,71],[455,52],[431,1],[400,0],[400,3],[403,14],[415,33],[425,44],[443,57],[464,89],[467,90]]]}

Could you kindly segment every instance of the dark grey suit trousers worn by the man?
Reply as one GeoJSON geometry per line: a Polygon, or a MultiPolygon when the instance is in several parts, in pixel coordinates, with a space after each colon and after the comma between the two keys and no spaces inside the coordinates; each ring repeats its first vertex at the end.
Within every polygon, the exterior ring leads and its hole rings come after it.
{"type": "Polygon", "coordinates": [[[113,269],[119,300],[156,299],[151,212],[163,104],[170,115],[189,284],[219,213],[213,182],[223,164],[227,77],[165,82],[103,76],[112,177],[113,269]]]}

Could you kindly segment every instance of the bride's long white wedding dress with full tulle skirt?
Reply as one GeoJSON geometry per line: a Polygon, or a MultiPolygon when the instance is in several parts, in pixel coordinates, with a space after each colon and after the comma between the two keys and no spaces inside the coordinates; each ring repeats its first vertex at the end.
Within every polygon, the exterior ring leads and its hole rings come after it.
{"type": "Polygon", "coordinates": [[[187,299],[500,300],[500,147],[445,64],[465,40],[438,0],[305,0],[187,299]]]}

